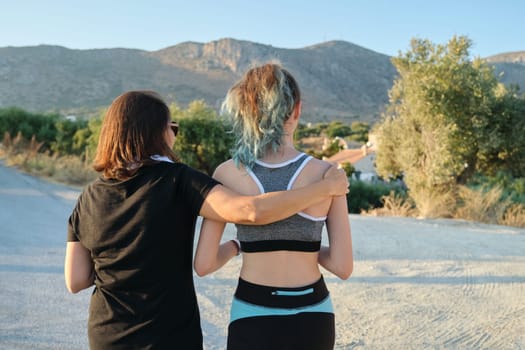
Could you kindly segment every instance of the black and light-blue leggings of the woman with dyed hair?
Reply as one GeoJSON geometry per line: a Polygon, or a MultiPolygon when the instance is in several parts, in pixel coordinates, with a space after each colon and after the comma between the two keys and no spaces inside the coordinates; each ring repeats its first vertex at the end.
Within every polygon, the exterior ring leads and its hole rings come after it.
{"type": "Polygon", "coordinates": [[[335,319],[323,278],[299,288],[242,279],[232,302],[228,350],[331,350],[335,319]]]}

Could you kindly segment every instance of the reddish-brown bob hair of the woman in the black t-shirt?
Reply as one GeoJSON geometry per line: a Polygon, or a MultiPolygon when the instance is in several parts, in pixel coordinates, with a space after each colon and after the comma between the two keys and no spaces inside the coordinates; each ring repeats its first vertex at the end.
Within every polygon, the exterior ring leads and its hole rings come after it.
{"type": "Polygon", "coordinates": [[[93,161],[105,178],[125,180],[143,166],[155,163],[152,155],[177,157],[165,141],[170,111],[154,91],[128,91],[109,106],[93,161]]]}

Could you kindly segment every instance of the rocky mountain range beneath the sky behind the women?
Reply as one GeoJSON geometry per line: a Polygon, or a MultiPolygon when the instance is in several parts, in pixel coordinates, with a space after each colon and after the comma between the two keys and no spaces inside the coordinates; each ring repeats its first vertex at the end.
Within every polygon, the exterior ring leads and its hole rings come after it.
{"type": "MultiPolygon", "coordinates": [[[[490,59],[502,81],[525,87],[524,53],[490,59]]],[[[182,107],[204,99],[219,108],[228,88],[251,66],[278,61],[297,78],[303,119],[374,122],[395,77],[390,57],[344,42],[282,49],[249,41],[185,42],[159,51],[0,48],[0,108],[71,111],[107,106],[131,89],[151,89],[182,107]]]]}

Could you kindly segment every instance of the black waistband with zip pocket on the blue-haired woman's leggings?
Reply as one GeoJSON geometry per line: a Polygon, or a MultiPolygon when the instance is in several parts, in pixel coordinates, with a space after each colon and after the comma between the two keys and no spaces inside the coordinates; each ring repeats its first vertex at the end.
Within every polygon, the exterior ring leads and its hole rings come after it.
{"type": "Polygon", "coordinates": [[[307,286],[271,287],[239,278],[235,297],[245,302],[268,306],[294,308],[319,303],[329,295],[323,276],[307,286]]]}

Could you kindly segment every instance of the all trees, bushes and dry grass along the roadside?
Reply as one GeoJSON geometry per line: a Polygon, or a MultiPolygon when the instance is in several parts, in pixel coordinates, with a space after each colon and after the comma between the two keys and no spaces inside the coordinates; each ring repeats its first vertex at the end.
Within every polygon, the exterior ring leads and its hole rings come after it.
{"type": "MultiPolygon", "coordinates": [[[[369,215],[460,218],[525,227],[525,95],[498,83],[493,68],[469,55],[471,42],[414,39],[392,59],[398,75],[373,126],[332,121],[301,125],[298,147],[319,158],[374,139],[376,175],[354,164],[349,210],[369,215]]],[[[229,125],[202,100],[170,106],[180,124],[181,160],[212,173],[229,157],[229,125]]],[[[91,169],[103,111],[85,118],[0,109],[7,165],[82,186],[91,169]]]]}

